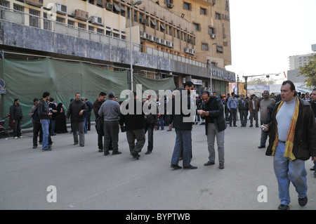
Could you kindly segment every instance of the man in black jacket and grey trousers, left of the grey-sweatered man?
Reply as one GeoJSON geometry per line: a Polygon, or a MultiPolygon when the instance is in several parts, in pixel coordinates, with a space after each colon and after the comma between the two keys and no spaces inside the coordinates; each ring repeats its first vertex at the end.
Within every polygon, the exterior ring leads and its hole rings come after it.
{"type": "Polygon", "coordinates": [[[66,120],[71,116],[72,134],[74,136],[74,145],[84,147],[84,112],[86,112],[86,103],[80,100],[80,93],[74,95],[75,99],[69,105],[66,120]],[[79,141],[78,141],[79,131],[79,141]]]}

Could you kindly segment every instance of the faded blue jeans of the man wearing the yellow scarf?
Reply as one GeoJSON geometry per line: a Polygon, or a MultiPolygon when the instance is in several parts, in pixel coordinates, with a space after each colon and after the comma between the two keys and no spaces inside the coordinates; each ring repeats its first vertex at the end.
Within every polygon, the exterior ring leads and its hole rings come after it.
{"type": "Polygon", "coordinates": [[[291,202],[289,196],[289,184],[293,183],[298,197],[306,197],[308,190],[307,172],[305,170],[305,162],[300,159],[290,161],[289,158],[284,157],[285,144],[279,143],[275,150],[275,157],[273,158],[273,167],[275,169],[275,176],[279,185],[279,199],[281,204],[289,205],[291,202]]]}

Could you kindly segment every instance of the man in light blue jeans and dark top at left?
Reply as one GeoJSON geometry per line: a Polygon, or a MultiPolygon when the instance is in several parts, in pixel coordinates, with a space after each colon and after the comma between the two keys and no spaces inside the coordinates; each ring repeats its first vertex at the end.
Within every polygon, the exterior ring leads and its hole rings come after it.
{"type": "Polygon", "coordinates": [[[37,109],[39,113],[39,118],[41,121],[41,129],[43,131],[43,143],[41,145],[42,151],[51,150],[51,146],[48,145],[49,123],[51,121],[51,115],[52,115],[52,112],[49,110],[49,107],[48,107],[49,95],[51,94],[48,92],[43,93],[43,98],[39,101],[39,106],[37,109]]]}

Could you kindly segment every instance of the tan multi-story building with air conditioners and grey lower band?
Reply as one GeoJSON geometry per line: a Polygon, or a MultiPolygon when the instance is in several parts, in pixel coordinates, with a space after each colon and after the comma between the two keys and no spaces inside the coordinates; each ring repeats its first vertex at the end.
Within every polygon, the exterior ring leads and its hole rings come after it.
{"type": "Polygon", "coordinates": [[[133,72],[148,78],[172,76],[178,87],[192,79],[199,93],[210,85],[227,93],[235,81],[225,70],[232,61],[229,1],[135,1],[0,0],[2,55],[93,62],[110,70],[129,70],[132,63],[133,72]]]}

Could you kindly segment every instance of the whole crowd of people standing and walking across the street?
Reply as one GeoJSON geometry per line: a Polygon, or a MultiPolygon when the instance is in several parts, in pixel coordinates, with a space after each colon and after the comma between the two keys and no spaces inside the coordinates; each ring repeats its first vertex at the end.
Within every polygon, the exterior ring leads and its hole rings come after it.
{"type": "MultiPolygon", "coordinates": [[[[236,117],[239,111],[242,127],[246,127],[248,112],[250,112],[250,126],[255,120],[258,124],[258,112],[261,121],[261,143],[258,148],[265,147],[268,140],[266,155],[274,156],[275,176],[279,184],[279,209],[289,209],[289,183],[292,182],[298,192],[298,203],[305,206],[308,202],[306,192],[305,160],[312,157],[316,168],[316,88],[304,98],[298,95],[291,81],[284,81],[281,93],[275,96],[273,93],[264,91],[262,98],[251,95],[245,98],[243,94],[235,93],[218,97],[217,94],[203,91],[197,98],[196,106],[193,102],[192,91],[195,84],[186,81],[183,88],[176,88],[172,98],[152,99],[147,94],[146,98],[139,100],[136,92],[131,92],[129,100],[119,102],[114,92],[100,92],[94,103],[81,98],[80,93],[75,94],[74,100],[65,114],[62,103],[55,105],[50,93],[44,92],[43,98],[34,99],[29,117],[32,117],[33,147],[37,147],[37,138],[42,142],[42,150],[51,150],[51,136],[55,133],[66,133],[66,121],[71,119],[71,128],[74,145],[84,147],[84,133],[91,130],[91,112],[96,116],[96,131],[98,133],[98,152],[105,156],[110,154],[121,154],[119,151],[119,131],[126,132],[130,154],[134,159],[140,159],[141,150],[146,142],[147,152],[152,153],[154,145],[154,130],[164,130],[164,125],[169,125],[169,130],[175,129],[176,140],[171,157],[172,169],[197,169],[191,164],[192,160],[192,124],[197,119],[203,121],[209,150],[208,161],[204,166],[211,166],[215,161],[215,138],[218,150],[218,168],[224,169],[225,162],[225,129],[227,124],[237,126],[236,117]],[[107,96],[107,100],[106,100],[107,96]],[[180,105],[177,105],[180,102],[180,105]],[[162,112],[160,105],[171,103],[172,111],[162,112]],[[138,109],[141,108],[139,111],[138,109]],[[144,110],[145,108],[145,110],[144,110]],[[229,116],[228,116],[229,114],[229,116]],[[163,115],[163,116],[162,116],[163,115]],[[202,119],[202,120],[201,120],[202,119]],[[41,132],[41,134],[39,134],[41,132]],[[78,138],[79,133],[79,138],[78,138]],[[183,167],[179,161],[183,160],[183,167]]],[[[15,99],[10,108],[11,119],[13,119],[15,138],[21,137],[20,123],[23,119],[19,100],[15,99]]],[[[315,171],[316,176],[316,171],[315,171]]]]}

